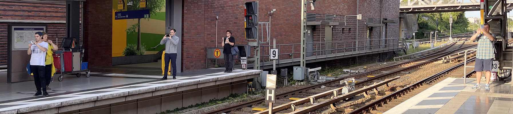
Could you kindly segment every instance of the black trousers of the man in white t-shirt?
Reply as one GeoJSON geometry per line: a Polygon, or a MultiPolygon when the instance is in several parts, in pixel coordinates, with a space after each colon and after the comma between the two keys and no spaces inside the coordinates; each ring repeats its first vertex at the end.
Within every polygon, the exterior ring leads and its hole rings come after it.
{"type": "Polygon", "coordinates": [[[30,65],[30,70],[34,75],[34,84],[37,92],[46,91],[45,67],[41,65],[30,65]]]}

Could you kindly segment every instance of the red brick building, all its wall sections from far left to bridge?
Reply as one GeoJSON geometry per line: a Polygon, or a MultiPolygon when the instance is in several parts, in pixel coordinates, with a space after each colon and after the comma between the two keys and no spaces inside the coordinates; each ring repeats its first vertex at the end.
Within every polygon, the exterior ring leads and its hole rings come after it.
{"type": "MultiPolygon", "coordinates": [[[[247,44],[244,39],[244,3],[251,1],[221,0],[201,1],[184,0],[182,3],[182,57],[181,71],[194,71],[205,69],[206,48],[215,47],[225,35],[226,30],[232,30],[232,36],[236,44],[247,44]],[[219,18],[216,19],[216,16],[219,18]],[[218,21],[218,30],[215,24],[218,21]],[[218,34],[216,36],[216,33],[218,34]]],[[[379,27],[368,28],[368,24],[384,24],[383,20],[399,20],[399,1],[397,0],[318,0],[315,10],[307,7],[307,13],[314,17],[314,21],[344,22],[346,15],[362,14],[358,20],[354,16],[346,19],[347,25],[332,27],[332,41],[363,40],[382,38],[379,27]],[[326,18],[328,17],[328,18],[326,18]],[[332,19],[332,20],[331,20],[332,19]],[[358,26],[357,26],[358,25],[358,26]],[[357,36],[358,34],[358,36],[357,36]],[[371,34],[371,35],[369,35],[371,34]],[[358,37],[358,38],[357,38],[358,37]]],[[[259,1],[259,21],[269,22],[267,12],[276,11],[270,18],[270,38],[276,38],[277,44],[300,43],[301,30],[301,1],[259,1]]],[[[84,3],[84,47],[86,54],[84,61],[89,62],[90,67],[112,65],[112,2],[104,0],[87,0],[84,3]]],[[[0,2],[0,65],[7,64],[7,25],[8,24],[44,24],[48,25],[50,38],[64,37],[65,5],[33,4],[0,2]],[[22,20],[22,21],[10,21],[22,20]],[[47,20],[34,22],[31,20],[47,20]]],[[[313,42],[324,42],[325,27],[313,26],[313,42]]],[[[399,25],[396,23],[385,24],[385,37],[399,37],[399,25]]],[[[179,33],[180,34],[180,33],[179,33]]],[[[370,43],[379,43],[372,41],[370,43]]],[[[272,43],[271,43],[272,44],[272,43]]],[[[269,43],[262,45],[271,45],[269,43]]],[[[357,46],[356,44],[352,44],[357,46]]],[[[360,46],[365,42],[360,42],[360,46]]],[[[349,45],[350,46],[350,45],[349,45]]],[[[316,47],[324,47],[319,45],[316,47]]],[[[348,47],[348,45],[344,45],[348,47]]],[[[292,47],[280,50],[280,53],[290,53],[292,47]]],[[[294,52],[299,51],[295,47],[294,52]]],[[[268,52],[263,51],[267,54],[268,52]]],[[[294,55],[298,58],[299,54],[294,55]]],[[[286,59],[289,56],[281,56],[286,59]]]]}

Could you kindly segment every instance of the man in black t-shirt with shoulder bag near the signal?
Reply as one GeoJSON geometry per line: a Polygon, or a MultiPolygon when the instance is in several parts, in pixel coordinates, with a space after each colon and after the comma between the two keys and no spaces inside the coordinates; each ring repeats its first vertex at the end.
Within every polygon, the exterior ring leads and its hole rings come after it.
{"type": "Polygon", "coordinates": [[[223,37],[223,43],[221,43],[224,50],[223,53],[225,59],[226,70],[225,73],[231,73],[233,70],[233,55],[231,54],[231,48],[235,45],[235,38],[231,36],[231,31],[226,31],[226,37],[223,37]]]}

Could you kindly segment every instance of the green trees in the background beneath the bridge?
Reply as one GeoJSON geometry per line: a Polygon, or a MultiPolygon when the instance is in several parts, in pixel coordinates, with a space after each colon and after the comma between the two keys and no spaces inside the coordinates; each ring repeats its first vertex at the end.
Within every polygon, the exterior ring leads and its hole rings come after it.
{"type": "MultiPolygon", "coordinates": [[[[444,13],[421,13],[418,17],[419,32],[439,31],[438,36],[450,34],[449,17],[452,15],[452,34],[460,34],[470,32],[467,30],[469,26],[465,12],[444,12],[444,13]],[[436,20],[438,18],[438,27],[436,20]]],[[[428,38],[429,34],[418,34],[417,37],[428,38]]]]}

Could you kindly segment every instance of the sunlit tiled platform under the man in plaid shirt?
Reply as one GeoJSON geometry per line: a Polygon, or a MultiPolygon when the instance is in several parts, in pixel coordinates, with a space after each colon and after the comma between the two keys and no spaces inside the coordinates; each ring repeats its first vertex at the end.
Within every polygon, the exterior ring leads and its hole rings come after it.
{"type": "MultiPolygon", "coordinates": [[[[484,78],[481,80],[484,81],[484,78]]],[[[513,113],[513,86],[507,83],[490,82],[490,90],[472,89],[476,79],[447,78],[424,92],[391,108],[383,114],[398,113],[513,113]]]]}

